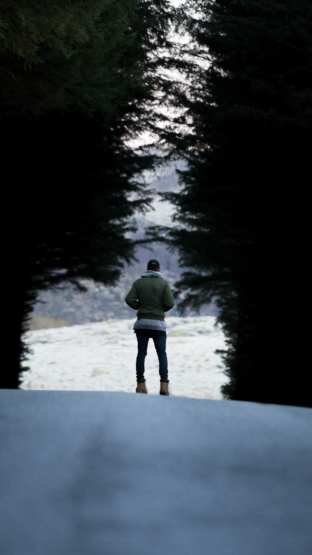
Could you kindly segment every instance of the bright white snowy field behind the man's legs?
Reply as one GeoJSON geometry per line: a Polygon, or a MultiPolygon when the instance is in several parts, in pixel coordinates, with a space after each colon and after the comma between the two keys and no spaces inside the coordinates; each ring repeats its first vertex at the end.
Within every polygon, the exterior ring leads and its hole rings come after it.
{"type": "MultiPolygon", "coordinates": [[[[21,388],[134,392],[135,319],[31,331],[25,341],[33,354],[24,364],[21,388]]],[[[172,396],[221,399],[227,381],[216,349],[226,349],[213,316],[168,317],[167,357],[172,396]]],[[[150,339],[145,359],[149,393],[159,395],[158,359],[150,339]]]]}

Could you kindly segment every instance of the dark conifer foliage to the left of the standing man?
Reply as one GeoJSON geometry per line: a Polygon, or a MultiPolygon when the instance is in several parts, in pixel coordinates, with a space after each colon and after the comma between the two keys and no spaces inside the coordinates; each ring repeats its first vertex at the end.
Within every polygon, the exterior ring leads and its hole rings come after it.
{"type": "Polygon", "coordinates": [[[18,387],[21,336],[40,289],[115,284],[134,256],[131,216],[156,157],[127,146],[157,127],[167,0],[0,2],[2,181],[9,297],[1,387],[18,387]]]}

